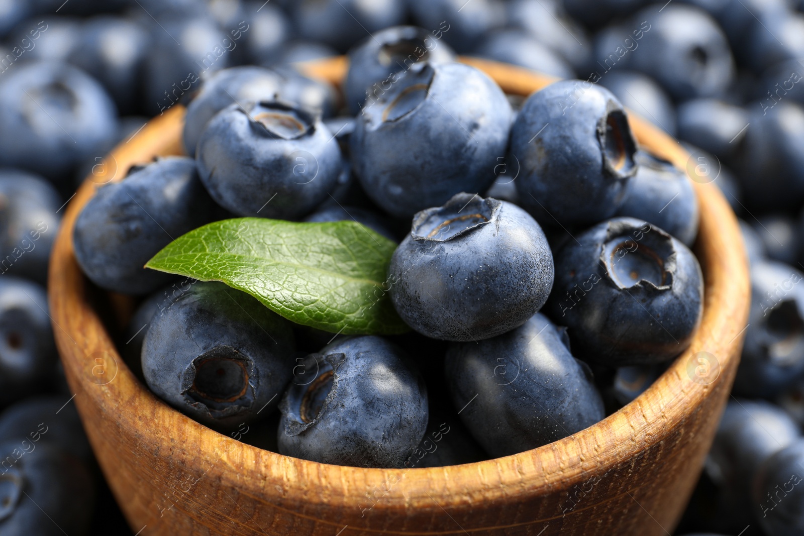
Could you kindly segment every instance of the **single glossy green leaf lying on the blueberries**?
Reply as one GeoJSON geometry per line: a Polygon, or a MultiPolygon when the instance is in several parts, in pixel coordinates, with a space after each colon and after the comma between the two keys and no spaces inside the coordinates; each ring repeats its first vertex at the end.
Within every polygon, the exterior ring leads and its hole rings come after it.
{"type": "Polygon", "coordinates": [[[395,249],[357,222],[240,218],[188,232],[146,268],[223,281],[290,321],[330,333],[394,334],[409,330],[385,283],[395,249]]]}

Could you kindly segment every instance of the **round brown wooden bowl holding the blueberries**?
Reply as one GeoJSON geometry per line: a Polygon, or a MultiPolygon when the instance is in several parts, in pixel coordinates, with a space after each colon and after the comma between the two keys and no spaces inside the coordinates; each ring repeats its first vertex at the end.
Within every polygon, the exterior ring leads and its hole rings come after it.
{"type": "MultiPolygon", "coordinates": [[[[503,90],[552,81],[465,59],[503,90]]],[[[308,66],[334,83],[343,58],[308,66]]],[[[687,167],[687,153],[630,117],[647,148],[687,167]]],[[[162,403],[122,361],[89,297],[72,228],[96,183],[182,152],[175,106],[109,157],[72,199],[55,243],[50,304],[56,342],[92,448],[130,526],[164,534],[671,534],[728,399],[749,307],[735,216],[713,184],[695,183],[704,319],[691,347],[650,389],[600,423],[555,443],[475,464],[377,469],[281,456],[205,428],[162,403]]]]}

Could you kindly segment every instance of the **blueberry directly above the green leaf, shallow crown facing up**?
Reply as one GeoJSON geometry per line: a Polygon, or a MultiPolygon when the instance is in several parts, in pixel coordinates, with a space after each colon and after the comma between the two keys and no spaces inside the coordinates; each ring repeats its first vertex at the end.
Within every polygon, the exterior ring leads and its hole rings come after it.
{"type": "Polygon", "coordinates": [[[280,101],[232,104],[196,149],[212,198],[241,216],[292,219],[328,198],[342,171],[338,141],[321,119],[280,101]]]}

